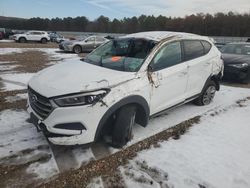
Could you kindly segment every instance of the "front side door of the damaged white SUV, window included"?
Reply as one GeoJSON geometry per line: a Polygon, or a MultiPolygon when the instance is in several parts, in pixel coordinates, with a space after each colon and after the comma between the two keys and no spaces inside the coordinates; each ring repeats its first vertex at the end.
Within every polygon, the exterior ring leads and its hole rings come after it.
{"type": "Polygon", "coordinates": [[[187,64],[183,62],[179,41],[164,45],[153,58],[150,68],[152,114],[185,100],[187,64]]]}

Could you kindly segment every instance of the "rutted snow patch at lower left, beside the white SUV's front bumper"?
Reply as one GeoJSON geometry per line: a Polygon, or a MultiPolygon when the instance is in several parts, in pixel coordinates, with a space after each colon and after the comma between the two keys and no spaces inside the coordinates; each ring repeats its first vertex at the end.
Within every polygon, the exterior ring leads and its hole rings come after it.
{"type": "Polygon", "coordinates": [[[59,172],[56,161],[46,138],[26,121],[28,118],[23,110],[0,112],[0,164],[25,164],[48,158],[42,163],[32,163],[27,172],[49,178],[59,172]]]}

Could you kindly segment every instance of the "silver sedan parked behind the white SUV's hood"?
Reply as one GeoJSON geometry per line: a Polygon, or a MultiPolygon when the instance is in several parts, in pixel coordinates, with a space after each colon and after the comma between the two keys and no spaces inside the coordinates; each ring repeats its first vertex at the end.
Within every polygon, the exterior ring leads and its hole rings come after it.
{"type": "Polygon", "coordinates": [[[102,36],[84,36],[78,40],[63,41],[59,44],[59,48],[64,51],[81,53],[81,52],[91,52],[101,44],[109,41],[102,36]]]}

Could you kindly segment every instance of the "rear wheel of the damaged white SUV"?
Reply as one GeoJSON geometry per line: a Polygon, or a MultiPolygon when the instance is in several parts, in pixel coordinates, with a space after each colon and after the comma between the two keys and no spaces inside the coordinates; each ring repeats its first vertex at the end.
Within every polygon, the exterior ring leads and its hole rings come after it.
{"type": "Polygon", "coordinates": [[[194,100],[194,103],[198,106],[209,105],[215,96],[215,92],[216,84],[214,81],[211,80],[209,83],[206,84],[201,95],[194,100]]]}

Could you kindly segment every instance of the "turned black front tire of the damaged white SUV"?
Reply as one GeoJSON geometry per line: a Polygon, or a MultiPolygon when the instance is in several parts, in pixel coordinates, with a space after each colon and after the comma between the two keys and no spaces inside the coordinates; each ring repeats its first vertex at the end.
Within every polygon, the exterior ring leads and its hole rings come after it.
{"type": "Polygon", "coordinates": [[[131,140],[135,116],[136,107],[133,105],[124,106],[118,111],[112,131],[113,147],[121,148],[131,140]]]}

